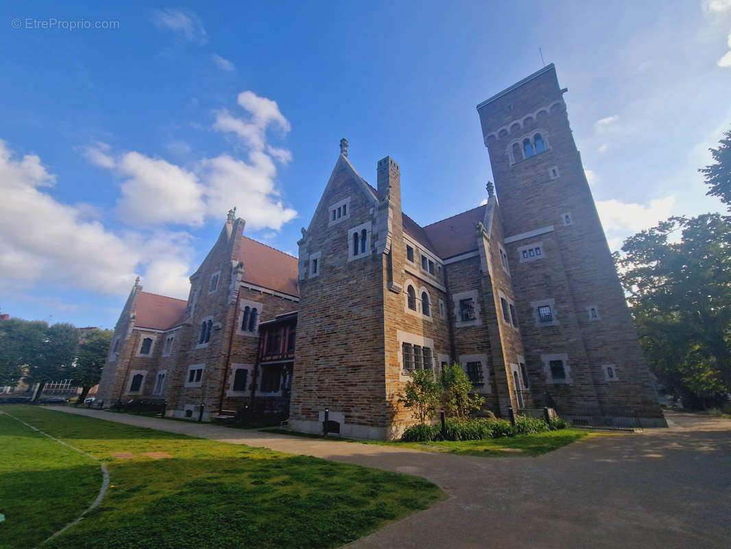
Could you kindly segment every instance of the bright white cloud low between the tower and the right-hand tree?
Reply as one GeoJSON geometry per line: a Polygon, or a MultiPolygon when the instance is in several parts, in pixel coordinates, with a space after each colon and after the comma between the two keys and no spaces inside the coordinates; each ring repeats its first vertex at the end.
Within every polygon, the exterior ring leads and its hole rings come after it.
{"type": "Polygon", "coordinates": [[[675,205],[675,195],[655,198],[649,206],[638,203],[624,203],[613,198],[596,201],[596,210],[607,235],[610,248],[618,250],[627,236],[651,228],[659,221],[670,217],[675,205]]]}

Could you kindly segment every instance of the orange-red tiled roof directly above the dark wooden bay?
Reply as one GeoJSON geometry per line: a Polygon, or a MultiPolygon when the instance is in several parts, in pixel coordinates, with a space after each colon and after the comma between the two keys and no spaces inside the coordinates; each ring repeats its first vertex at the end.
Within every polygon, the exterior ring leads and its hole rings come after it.
{"type": "Polygon", "coordinates": [[[244,282],[290,296],[300,295],[298,259],[292,255],[242,236],[238,260],[243,261],[244,282]]]}

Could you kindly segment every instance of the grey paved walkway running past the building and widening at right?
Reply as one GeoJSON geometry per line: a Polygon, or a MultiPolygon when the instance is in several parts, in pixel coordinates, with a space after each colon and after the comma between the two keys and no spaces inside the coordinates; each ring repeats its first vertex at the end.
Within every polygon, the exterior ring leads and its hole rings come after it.
{"type": "Polygon", "coordinates": [[[472,458],[74,408],[59,411],[417,474],[450,498],[349,549],[728,548],[731,421],[584,439],[538,458],[472,458]]]}

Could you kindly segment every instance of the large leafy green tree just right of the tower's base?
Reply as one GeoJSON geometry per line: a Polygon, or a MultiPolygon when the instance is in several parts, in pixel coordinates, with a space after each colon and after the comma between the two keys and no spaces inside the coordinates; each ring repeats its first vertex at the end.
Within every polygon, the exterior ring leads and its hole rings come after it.
{"type": "Polygon", "coordinates": [[[731,217],[671,217],[622,251],[621,281],[651,370],[700,403],[729,391],[731,217]]]}

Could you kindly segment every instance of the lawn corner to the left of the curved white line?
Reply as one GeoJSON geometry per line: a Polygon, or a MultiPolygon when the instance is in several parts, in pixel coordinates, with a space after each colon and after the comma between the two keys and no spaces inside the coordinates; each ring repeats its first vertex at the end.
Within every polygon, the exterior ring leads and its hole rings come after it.
{"type": "Polygon", "coordinates": [[[99,463],[0,414],[0,548],[39,544],[81,515],[101,485],[99,463]]]}

